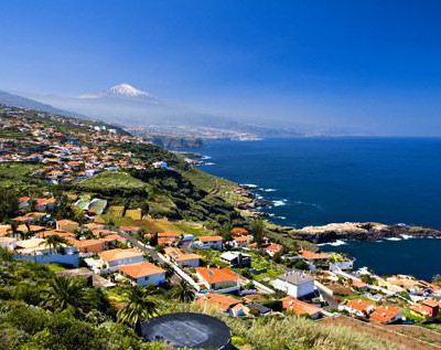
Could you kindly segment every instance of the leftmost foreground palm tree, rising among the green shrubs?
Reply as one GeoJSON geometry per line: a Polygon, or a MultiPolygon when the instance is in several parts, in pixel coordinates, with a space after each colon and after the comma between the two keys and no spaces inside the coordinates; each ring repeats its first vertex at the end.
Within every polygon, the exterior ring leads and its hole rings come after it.
{"type": "Polygon", "coordinates": [[[68,307],[82,309],[85,299],[85,286],[82,280],[72,277],[54,277],[49,288],[43,291],[44,306],[52,310],[62,311],[68,307]]]}

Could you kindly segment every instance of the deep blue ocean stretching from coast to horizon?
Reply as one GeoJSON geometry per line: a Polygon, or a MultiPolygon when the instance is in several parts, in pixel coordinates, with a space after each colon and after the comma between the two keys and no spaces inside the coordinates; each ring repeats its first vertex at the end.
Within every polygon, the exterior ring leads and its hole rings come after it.
{"type": "MultiPolygon", "coordinates": [[[[251,184],[257,195],[275,201],[266,211],[279,224],[375,221],[441,229],[438,138],[215,141],[202,152],[211,157],[202,170],[251,184]]],[[[379,274],[441,273],[441,240],[346,242],[323,250],[348,252],[358,266],[379,274]],[[398,263],[390,264],[391,257],[398,263]]]]}

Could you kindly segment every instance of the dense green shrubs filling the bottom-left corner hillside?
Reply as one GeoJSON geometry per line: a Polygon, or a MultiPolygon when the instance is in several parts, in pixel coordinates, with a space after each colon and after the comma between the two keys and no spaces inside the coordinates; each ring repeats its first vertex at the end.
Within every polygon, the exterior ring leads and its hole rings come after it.
{"type": "Polygon", "coordinates": [[[0,251],[1,350],[162,349],[116,320],[101,289],[0,251]]]}

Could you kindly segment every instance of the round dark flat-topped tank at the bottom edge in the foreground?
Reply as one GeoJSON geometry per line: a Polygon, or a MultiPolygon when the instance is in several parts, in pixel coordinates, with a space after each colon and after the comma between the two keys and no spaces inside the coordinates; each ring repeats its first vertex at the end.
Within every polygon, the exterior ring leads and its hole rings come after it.
{"type": "Polygon", "coordinates": [[[148,341],[166,341],[174,348],[230,349],[229,328],[204,314],[176,312],[142,322],[142,337],[148,341]]]}

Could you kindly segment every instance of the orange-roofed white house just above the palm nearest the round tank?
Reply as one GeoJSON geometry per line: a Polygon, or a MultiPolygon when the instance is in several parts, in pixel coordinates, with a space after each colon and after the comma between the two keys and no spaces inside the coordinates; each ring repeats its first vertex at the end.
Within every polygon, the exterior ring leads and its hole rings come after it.
{"type": "Polygon", "coordinates": [[[138,286],[158,286],[166,282],[165,271],[148,262],[119,266],[120,273],[138,286]]]}

